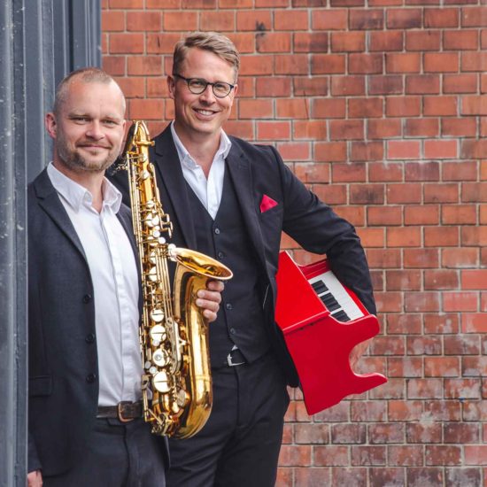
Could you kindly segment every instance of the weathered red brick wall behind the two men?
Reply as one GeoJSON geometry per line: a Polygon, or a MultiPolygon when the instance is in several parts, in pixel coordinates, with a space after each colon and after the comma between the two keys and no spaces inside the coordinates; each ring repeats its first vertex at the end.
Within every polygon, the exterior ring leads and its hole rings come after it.
{"type": "Polygon", "coordinates": [[[487,485],[487,6],[441,4],[103,2],[129,118],[171,120],[182,32],[228,34],[243,59],[226,129],[275,143],[367,248],[382,332],[359,370],[389,383],[313,418],[296,393],[279,485],[487,485]]]}

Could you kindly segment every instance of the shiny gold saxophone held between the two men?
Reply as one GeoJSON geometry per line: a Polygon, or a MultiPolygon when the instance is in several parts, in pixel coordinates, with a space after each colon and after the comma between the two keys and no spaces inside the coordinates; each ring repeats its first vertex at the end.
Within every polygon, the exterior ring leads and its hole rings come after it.
{"type": "Polygon", "coordinates": [[[232,272],[215,259],[167,243],[172,223],[158,194],[153,144],[145,123],[135,120],[123,151],[142,275],[143,419],[156,435],[187,438],[205,425],[213,402],[208,322],[196,305],[208,279],[228,280],[232,272]],[[168,260],[176,262],[174,296],[168,260]]]}

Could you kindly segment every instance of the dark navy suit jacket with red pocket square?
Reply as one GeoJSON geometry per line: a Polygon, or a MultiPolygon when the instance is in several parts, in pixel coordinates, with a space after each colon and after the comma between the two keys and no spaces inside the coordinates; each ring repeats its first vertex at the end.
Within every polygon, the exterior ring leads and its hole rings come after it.
{"type": "MultiPolygon", "coordinates": [[[[232,147],[226,159],[226,170],[234,182],[244,224],[259,259],[258,265],[264,271],[260,291],[267,331],[290,385],[297,385],[298,376],[282,333],[274,322],[275,274],[282,231],[306,251],[326,253],[336,276],[357,293],[369,313],[375,314],[367,259],[352,225],[306,189],[283,164],[274,147],[246,143],[236,137],[230,137],[230,140],[232,147]],[[277,205],[261,213],[260,203],[265,195],[274,199],[277,205]]],[[[156,166],[162,206],[174,224],[173,242],[195,249],[197,241],[188,189],[170,127],[154,141],[150,157],[156,166]]],[[[117,173],[112,176],[112,181],[119,186],[124,202],[129,205],[127,174],[117,173]]]]}

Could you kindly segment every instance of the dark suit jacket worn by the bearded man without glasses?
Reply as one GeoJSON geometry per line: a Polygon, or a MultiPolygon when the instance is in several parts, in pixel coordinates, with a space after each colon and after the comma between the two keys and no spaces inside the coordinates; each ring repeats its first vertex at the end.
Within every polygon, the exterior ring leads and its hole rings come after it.
{"type": "MultiPolygon", "coordinates": [[[[97,416],[96,303],[81,241],[45,169],[27,208],[28,471],[58,475],[83,454],[97,416]]],[[[135,251],[128,207],[117,216],[135,251]]]]}

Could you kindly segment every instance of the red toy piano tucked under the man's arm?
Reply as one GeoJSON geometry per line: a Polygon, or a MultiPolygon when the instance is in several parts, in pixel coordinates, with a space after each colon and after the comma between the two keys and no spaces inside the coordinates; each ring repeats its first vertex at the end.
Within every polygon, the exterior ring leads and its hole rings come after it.
{"type": "Polygon", "coordinates": [[[349,356],[379,333],[379,321],[329,269],[327,260],[298,266],[279,255],[275,321],[298,371],[308,414],[387,382],[382,374],[357,375],[349,356]]]}

